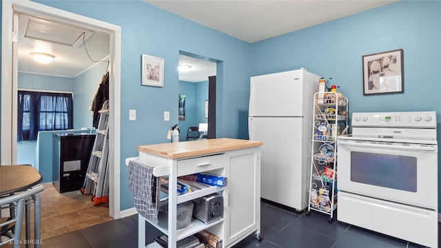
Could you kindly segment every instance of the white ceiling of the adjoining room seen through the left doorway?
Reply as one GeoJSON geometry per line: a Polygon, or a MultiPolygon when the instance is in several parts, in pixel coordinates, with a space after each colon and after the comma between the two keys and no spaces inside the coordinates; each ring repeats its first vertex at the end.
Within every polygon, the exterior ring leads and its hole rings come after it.
{"type": "Polygon", "coordinates": [[[109,56],[109,34],[23,13],[19,16],[17,38],[19,72],[74,77],[95,65],[94,61],[107,63],[109,56]],[[32,59],[30,52],[48,53],[55,58],[41,64],[32,59]]]}

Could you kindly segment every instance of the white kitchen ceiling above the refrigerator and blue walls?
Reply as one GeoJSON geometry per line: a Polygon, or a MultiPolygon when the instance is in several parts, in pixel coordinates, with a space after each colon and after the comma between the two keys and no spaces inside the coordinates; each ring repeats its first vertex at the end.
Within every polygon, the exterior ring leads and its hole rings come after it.
{"type": "Polygon", "coordinates": [[[382,0],[143,1],[251,43],[396,2],[382,0]]]}

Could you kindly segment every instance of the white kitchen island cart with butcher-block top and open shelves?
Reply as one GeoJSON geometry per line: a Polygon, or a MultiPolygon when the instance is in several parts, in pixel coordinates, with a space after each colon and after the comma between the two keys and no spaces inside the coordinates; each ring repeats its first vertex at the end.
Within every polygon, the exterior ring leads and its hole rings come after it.
{"type": "MultiPolygon", "coordinates": [[[[169,188],[176,189],[178,176],[203,172],[225,176],[227,186],[211,186],[178,196],[168,193],[168,228],[151,223],[168,236],[168,247],[206,229],[232,247],[253,232],[260,239],[260,145],[261,141],[214,138],[201,141],[140,145],[139,163],[154,167],[154,176],[168,176],[169,188]],[[205,224],[196,218],[187,227],[176,229],[179,203],[218,193],[223,196],[223,218],[205,224]]],[[[127,161],[126,161],[127,163],[127,161]]],[[[145,247],[145,218],[139,214],[139,247],[145,247]]],[[[148,220],[147,220],[148,221],[148,220]]],[[[154,240],[147,247],[161,247],[154,240]]]]}

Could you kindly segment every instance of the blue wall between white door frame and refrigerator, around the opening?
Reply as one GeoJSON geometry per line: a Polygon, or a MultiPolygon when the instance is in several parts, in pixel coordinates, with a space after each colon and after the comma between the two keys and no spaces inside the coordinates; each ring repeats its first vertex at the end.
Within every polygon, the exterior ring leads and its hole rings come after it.
{"type": "Polygon", "coordinates": [[[247,111],[251,75],[249,43],[142,1],[37,2],[121,26],[121,210],[134,206],[127,187],[125,158],[138,155],[137,145],[170,142],[165,134],[178,123],[180,50],[220,61],[216,69],[220,74],[217,82],[221,121],[217,125],[218,136],[247,138],[247,115],[232,113],[247,111]],[[142,54],[164,59],[164,87],[141,86],[142,54]],[[223,96],[228,96],[229,101],[223,96]],[[125,117],[129,110],[136,110],[136,121],[125,117]],[[170,121],[163,121],[164,111],[170,111],[170,121]],[[231,118],[221,118],[224,113],[231,118]],[[239,125],[242,125],[240,129],[239,125]]]}

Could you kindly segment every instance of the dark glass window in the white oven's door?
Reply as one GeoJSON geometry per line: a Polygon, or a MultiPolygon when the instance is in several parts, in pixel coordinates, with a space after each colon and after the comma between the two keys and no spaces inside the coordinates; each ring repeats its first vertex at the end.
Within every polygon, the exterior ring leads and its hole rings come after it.
{"type": "Polygon", "coordinates": [[[353,182],[416,192],[416,178],[416,157],[351,152],[353,182]]]}

